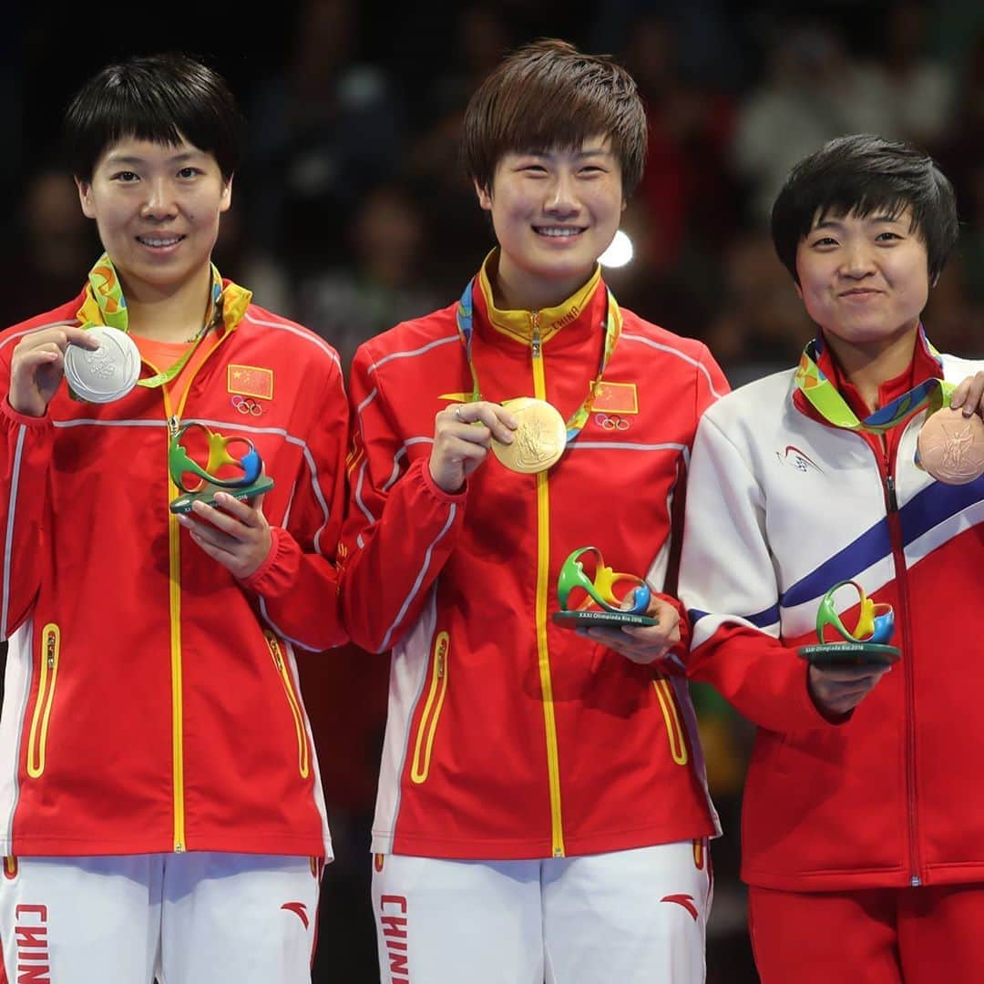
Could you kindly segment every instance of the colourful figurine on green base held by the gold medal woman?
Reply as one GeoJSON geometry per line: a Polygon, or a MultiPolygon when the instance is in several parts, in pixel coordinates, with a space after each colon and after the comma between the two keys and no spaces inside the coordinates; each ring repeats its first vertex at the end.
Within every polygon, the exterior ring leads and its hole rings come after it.
{"type": "Polygon", "coordinates": [[[658,619],[646,615],[652,592],[642,578],[634,574],[616,574],[605,567],[601,551],[597,547],[581,547],[564,561],[557,578],[557,600],[561,610],[553,613],[557,625],[569,629],[579,626],[656,625],[658,619]],[[594,577],[584,573],[579,559],[583,554],[593,554],[594,577]],[[615,593],[615,585],[627,582],[632,586],[621,597],[615,593]],[[584,591],[584,600],[576,608],[571,607],[571,592],[584,591]],[[631,598],[631,605],[627,602],[631,598]]]}

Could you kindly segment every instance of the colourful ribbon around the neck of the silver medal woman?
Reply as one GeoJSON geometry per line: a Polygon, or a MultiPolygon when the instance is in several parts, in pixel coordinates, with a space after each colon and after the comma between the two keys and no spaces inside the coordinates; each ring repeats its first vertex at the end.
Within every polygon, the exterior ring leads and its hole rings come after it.
{"type": "MultiPolygon", "coordinates": [[[[253,294],[237,283],[222,286],[222,278],[215,264],[212,264],[212,288],[209,295],[209,311],[203,325],[203,330],[188,350],[164,372],[137,381],[138,386],[154,389],[170,383],[187,365],[195,349],[202,339],[209,334],[209,329],[221,324],[226,331],[231,331],[242,320],[253,294]]],[[[76,318],[82,327],[92,328],[94,325],[107,325],[121,332],[129,331],[129,312],[120,279],[113,267],[112,260],[103,253],[89,273],[89,284],[86,287],[86,297],[79,308],[76,318]]]]}

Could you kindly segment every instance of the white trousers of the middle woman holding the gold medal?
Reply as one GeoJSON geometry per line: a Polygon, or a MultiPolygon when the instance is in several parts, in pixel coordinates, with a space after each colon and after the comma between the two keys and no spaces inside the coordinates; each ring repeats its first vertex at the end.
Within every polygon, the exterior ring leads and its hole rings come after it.
{"type": "Polygon", "coordinates": [[[702,984],[707,841],[538,861],[378,854],[385,984],[702,984]]]}

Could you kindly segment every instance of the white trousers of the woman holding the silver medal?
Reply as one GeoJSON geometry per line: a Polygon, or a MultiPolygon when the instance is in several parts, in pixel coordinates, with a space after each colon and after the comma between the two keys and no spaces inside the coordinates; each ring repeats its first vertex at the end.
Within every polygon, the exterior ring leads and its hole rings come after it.
{"type": "Polygon", "coordinates": [[[320,873],[260,854],[6,858],[0,980],[310,982],[320,873]]]}

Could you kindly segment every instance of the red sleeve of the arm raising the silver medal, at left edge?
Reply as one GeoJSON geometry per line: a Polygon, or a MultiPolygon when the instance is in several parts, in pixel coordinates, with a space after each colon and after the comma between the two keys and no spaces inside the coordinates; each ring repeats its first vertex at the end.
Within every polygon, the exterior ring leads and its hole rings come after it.
{"type": "MultiPolygon", "coordinates": [[[[9,347],[9,345],[7,346],[9,347]]],[[[0,638],[8,639],[28,618],[41,583],[48,502],[48,462],[54,451],[51,418],[18,413],[8,402],[10,354],[0,359],[0,638]]]]}

